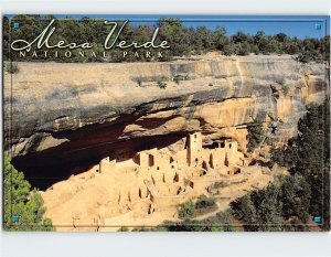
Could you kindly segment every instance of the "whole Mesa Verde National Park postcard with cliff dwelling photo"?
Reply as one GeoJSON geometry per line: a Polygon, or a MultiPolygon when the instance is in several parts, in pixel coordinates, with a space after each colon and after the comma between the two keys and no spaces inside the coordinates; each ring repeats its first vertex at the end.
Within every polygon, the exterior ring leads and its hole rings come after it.
{"type": "Polygon", "coordinates": [[[329,17],[2,19],[6,231],[330,231],[329,17]]]}

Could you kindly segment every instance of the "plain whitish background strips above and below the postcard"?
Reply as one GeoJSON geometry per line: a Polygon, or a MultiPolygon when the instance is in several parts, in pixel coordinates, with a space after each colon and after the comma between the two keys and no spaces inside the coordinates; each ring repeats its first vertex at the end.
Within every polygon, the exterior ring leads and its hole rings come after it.
{"type": "MultiPolygon", "coordinates": [[[[331,0],[0,0],[1,15],[9,13],[324,15],[330,12],[331,0]]],[[[2,56],[0,57],[2,63],[1,58],[2,56]]],[[[2,122],[2,111],[0,120],[2,122]]],[[[330,246],[331,233],[73,234],[3,233],[1,228],[0,234],[0,256],[3,257],[331,256],[330,246]]]]}

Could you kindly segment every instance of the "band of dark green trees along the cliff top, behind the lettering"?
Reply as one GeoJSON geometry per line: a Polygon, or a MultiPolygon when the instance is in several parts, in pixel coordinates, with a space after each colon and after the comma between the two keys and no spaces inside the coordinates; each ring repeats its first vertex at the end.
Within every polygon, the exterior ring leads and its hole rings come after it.
{"type": "MultiPolygon", "coordinates": [[[[3,18],[3,57],[9,60],[10,38],[11,41],[24,39],[29,42],[33,41],[38,33],[42,32],[50,23],[54,15],[14,15],[11,20],[3,18]],[[19,23],[20,29],[14,30],[13,23],[19,23]]],[[[58,50],[58,57],[50,55],[46,60],[54,60],[57,62],[134,62],[137,61],[135,56],[122,57],[122,51],[111,50],[109,58],[103,58],[103,42],[109,33],[109,28],[106,26],[103,20],[89,19],[87,17],[81,20],[72,18],[55,19],[56,33],[51,36],[50,42],[88,42],[93,43],[97,53],[97,57],[81,56],[76,54],[75,57],[67,58],[64,56],[65,50],[58,50]],[[61,36],[60,36],[61,35],[61,36]]],[[[254,54],[290,54],[298,55],[297,60],[300,62],[322,62],[330,58],[330,36],[322,39],[298,39],[290,38],[285,33],[275,35],[266,35],[263,31],[258,31],[252,35],[244,32],[237,32],[234,35],[228,35],[224,28],[210,30],[206,26],[199,26],[196,29],[186,28],[179,19],[160,19],[154,25],[136,25],[128,23],[119,35],[119,41],[130,41],[135,39],[137,42],[147,42],[154,30],[154,26],[160,28],[157,42],[168,41],[171,47],[163,50],[160,61],[170,61],[173,56],[183,56],[190,54],[203,54],[210,51],[221,51],[225,55],[247,55],[254,54]]],[[[117,28],[117,31],[119,26],[117,28]]],[[[43,53],[45,49],[38,50],[36,53],[43,53]]],[[[73,50],[78,52],[79,50],[73,50]]],[[[136,50],[142,53],[145,50],[136,50]]],[[[156,55],[158,50],[149,49],[151,56],[156,55]]],[[[31,58],[28,57],[26,58],[31,58]]],[[[11,60],[19,60],[18,56],[11,56],[11,60]]],[[[43,54],[34,57],[33,61],[44,61],[43,54]]],[[[143,54],[140,54],[138,61],[152,61],[143,54]]],[[[32,61],[32,58],[30,60],[32,61]]]]}

